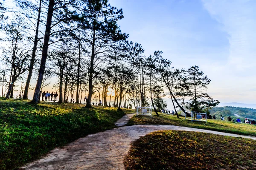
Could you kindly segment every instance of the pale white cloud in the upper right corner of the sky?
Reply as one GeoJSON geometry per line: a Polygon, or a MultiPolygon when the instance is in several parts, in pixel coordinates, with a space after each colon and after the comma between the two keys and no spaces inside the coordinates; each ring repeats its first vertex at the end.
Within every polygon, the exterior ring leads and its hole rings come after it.
{"type": "Polygon", "coordinates": [[[228,66],[237,71],[255,71],[256,7],[251,0],[202,0],[209,14],[223,25],[230,35],[228,66]]]}

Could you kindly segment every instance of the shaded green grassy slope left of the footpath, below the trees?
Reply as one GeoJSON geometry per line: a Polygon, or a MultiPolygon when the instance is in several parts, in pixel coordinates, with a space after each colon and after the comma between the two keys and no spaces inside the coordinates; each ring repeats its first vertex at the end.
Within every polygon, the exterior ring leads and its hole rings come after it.
{"type": "Polygon", "coordinates": [[[90,133],[116,127],[129,109],[0,99],[0,169],[17,169],[49,150],[90,133]]]}

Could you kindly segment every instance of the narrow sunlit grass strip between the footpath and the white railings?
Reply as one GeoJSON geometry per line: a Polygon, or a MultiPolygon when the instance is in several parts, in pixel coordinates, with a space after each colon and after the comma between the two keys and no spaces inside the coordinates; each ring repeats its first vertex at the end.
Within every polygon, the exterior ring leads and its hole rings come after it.
{"type": "Polygon", "coordinates": [[[214,130],[219,132],[234,133],[247,136],[256,136],[256,125],[244,123],[225,122],[221,120],[208,119],[205,122],[191,122],[184,117],[178,119],[176,116],[160,113],[160,116],[133,116],[128,125],[176,125],[194,127],[198,129],[214,130]]]}

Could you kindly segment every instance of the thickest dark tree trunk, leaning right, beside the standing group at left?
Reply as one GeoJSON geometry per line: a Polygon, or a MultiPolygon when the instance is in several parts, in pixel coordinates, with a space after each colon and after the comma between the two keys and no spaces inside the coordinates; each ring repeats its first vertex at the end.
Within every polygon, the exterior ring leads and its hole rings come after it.
{"type": "Polygon", "coordinates": [[[31,101],[31,103],[34,103],[34,104],[38,104],[38,102],[40,100],[40,98],[39,98],[40,97],[40,87],[41,87],[41,84],[43,81],[45,63],[46,63],[46,59],[47,59],[54,4],[55,4],[54,0],[49,0],[46,29],[45,29],[45,35],[44,35],[44,45],[43,45],[42,57],[41,57],[41,65],[40,65],[40,69],[38,72],[38,81],[35,86],[34,96],[31,101]]]}

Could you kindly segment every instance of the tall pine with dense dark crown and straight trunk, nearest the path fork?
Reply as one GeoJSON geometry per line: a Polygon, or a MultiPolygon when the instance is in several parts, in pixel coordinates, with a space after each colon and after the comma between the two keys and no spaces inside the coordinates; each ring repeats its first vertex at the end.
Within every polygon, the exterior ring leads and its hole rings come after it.
{"type": "Polygon", "coordinates": [[[87,20],[84,28],[87,30],[85,42],[90,49],[89,66],[89,94],[86,107],[91,107],[93,95],[93,77],[97,66],[109,57],[111,45],[119,40],[125,40],[126,34],[122,34],[117,20],[123,18],[122,9],[118,10],[107,4],[107,0],[89,0],[87,10],[84,13],[87,20]]]}

